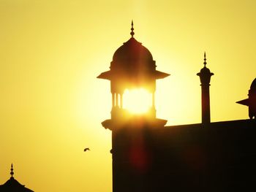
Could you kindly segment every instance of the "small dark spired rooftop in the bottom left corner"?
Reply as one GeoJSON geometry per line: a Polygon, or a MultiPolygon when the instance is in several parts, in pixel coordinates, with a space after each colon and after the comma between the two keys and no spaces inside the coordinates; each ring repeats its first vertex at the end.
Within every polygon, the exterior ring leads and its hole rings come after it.
{"type": "Polygon", "coordinates": [[[11,177],[10,180],[7,180],[6,183],[0,185],[1,192],[33,192],[29,188],[25,188],[25,185],[18,183],[18,180],[15,180],[13,177],[13,167],[11,166],[11,177]]]}

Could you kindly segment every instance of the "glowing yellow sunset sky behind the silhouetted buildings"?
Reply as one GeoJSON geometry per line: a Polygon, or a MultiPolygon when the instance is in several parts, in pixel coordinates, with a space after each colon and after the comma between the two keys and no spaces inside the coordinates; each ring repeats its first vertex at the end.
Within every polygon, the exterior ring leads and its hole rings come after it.
{"type": "Polygon", "coordinates": [[[206,51],[211,120],[248,118],[236,104],[256,77],[256,1],[0,0],[0,185],[112,191],[110,83],[97,79],[130,35],[151,51],[157,118],[200,123],[206,51]],[[91,151],[83,152],[84,147],[91,151]]]}

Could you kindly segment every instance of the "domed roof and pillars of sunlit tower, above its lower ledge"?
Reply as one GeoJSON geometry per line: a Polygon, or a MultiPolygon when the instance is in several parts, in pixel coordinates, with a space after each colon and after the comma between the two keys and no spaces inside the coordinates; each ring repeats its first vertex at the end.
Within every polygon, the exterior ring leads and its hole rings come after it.
{"type": "MultiPolygon", "coordinates": [[[[156,70],[156,61],[149,50],[141,45],[133,36],[134,28],[132,22],[131,38],[124,42],[113,55],[110,70],[102,72],[97,78],[110,80],[112,93],[112,119],[122,119],[126,111],[123,107],[124,91],[133,88],[146,88],[151,93],[151,118],[156,118],[154,93],[156,91],[156,80],[167,77],[170,74],[156,70]]],[[[125,114],[127,116],[127,114],[125,114]]]]}

